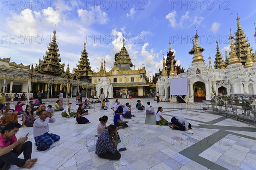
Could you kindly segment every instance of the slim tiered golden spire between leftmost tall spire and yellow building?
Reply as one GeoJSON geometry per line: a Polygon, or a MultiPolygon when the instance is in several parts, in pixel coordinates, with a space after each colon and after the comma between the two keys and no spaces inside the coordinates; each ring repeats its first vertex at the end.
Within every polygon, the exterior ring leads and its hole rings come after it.
{"type": "Polygon", "coordinates": [[[78,68],[74,68],[75,72],[74,79],[89,81],[88,72],[91,71],[90,62],[88,59],[88,53],[86,52],[86,46],[84,42],[84,51],[81,52],[81,58],[79,60],[79,65],[76,65],[78,68]]]}

